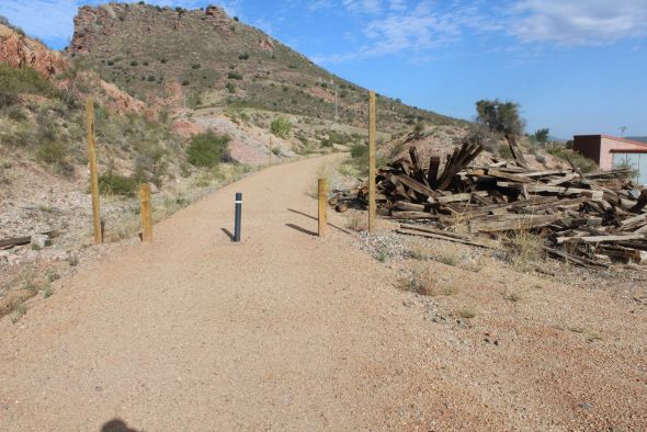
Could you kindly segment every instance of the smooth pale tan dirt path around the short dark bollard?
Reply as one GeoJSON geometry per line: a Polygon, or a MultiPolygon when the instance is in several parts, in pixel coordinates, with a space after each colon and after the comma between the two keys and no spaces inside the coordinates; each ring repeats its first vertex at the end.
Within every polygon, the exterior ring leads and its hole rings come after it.
{"type": "Polygon", "coordinates": [[[393,372],[399,345],[418,342],[368,257],[304,232],[316,221],[297,212],[316,215],[306,191],[321,163],[225,187],[159,224],[155,243],[88,265],[19,323],[4,319],[0,430],[99,430],[113,418],[148,431],[353,429],[399,418],[409,379],[393,372]],[[222,230],[236,191],[240,246],[222,230]]]}

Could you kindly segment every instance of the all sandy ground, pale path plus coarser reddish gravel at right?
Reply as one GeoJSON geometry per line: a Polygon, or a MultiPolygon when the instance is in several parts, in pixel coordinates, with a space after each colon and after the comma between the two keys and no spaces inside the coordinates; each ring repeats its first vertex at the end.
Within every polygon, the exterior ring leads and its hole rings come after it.
{"type": "Polygon", "coordinates": [[[0,430],[647,429],[644,304],[441,263],[455,294],[398,291],[357,239],[313,235],[321,163],[224,187],[2,319],[0,430]]]}

